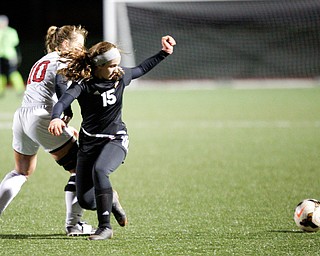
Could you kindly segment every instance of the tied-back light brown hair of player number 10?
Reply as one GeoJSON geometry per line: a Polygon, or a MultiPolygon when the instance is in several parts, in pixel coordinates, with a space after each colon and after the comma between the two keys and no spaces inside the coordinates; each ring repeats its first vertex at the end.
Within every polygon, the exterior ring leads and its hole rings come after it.
{"type": "Polygon", "coordinates": [[[65,25],[60,28],[56,26],[49,27],[45,37],[46,51],[49,53],[60,50],[60,46],[64,40],[72,41],[78,34],[86,38],[88,31],[81,26],[73,25],[65,25]]]}

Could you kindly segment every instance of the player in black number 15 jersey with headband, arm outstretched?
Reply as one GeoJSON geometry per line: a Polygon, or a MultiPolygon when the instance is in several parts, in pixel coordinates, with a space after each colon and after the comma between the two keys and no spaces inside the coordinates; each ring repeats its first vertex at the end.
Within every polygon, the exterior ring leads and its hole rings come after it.
{"type": "Polygon", "coordinates": [[[132,79],[149,72],[168,55],[176,44],[171,36],[161,40],[162,50],[134,68],[120,67],[117,47],[100,42],[88,51],[67,52],[68,67],[61,70],[75,81],[53,108],[48,130],[59,136],[66,124],[60,119],[64,109],[77,99],[82,123],[77,160],[77,197],[81,207],[97,210],[98,229],[89,240],[110,239],[113,190],[109,175],[124,161],[128,135],[122,121],[122,99],[132,79]]]}

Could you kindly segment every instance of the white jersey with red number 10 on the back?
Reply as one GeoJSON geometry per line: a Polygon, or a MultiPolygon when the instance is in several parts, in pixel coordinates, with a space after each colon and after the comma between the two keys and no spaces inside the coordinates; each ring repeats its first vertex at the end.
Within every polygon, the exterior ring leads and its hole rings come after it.
{"type": "Polygon", "coordinates": [[[59,62],[58,52],[51,52],[38,60],[32,67],[27,88],[22,100],[22,107],[46,106],[52,108],[57,102],[55,81],[57,70],[66,64],[59,62]]]}

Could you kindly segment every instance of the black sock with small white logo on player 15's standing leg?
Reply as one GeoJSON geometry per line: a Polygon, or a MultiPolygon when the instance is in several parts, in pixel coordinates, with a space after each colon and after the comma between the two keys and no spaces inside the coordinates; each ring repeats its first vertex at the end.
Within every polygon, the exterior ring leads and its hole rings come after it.
{"type": "Polygon", "coordinates": [[[110,224],[110,214],[112,210],[112,188],[104,190],[96,190],[96,203],[99,227],[107,227],[112,229],[110,224]]]}

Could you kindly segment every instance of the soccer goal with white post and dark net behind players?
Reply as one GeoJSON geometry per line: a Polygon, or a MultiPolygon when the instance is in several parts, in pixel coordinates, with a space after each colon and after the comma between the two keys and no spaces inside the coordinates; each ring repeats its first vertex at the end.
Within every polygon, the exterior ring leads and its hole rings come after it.
{"type": "Polygon", "coordinates": [[[104,37],[135,65],[172,35],[174,55],[144,79],[320,76],[320,1],[105,0],[104,37]]]}

